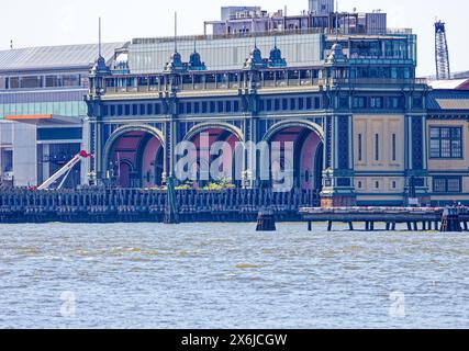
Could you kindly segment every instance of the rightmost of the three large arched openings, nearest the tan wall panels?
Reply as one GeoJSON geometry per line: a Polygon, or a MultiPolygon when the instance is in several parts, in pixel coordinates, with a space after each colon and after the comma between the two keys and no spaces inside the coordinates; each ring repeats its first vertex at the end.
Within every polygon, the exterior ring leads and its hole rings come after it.
{"type": "Polygon", "coordinates": [[[283,172],[284,177],[292,177],[291,184],[295,189],[322,190],[324,143],[319,126],[291,123],[273,126],[265,140],[270,147],[270,185],[279,183],[277,173],[283,172]],[[291,157],[284,152],[288,143],[293,146],[291,157]],[[279,147],[283,151],[278,154],[278,160],[273,149],[279,147]]]}

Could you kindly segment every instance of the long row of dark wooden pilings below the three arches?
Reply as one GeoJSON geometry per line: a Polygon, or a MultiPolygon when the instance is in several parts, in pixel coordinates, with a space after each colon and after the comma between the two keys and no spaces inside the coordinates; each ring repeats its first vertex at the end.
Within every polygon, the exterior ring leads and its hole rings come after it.
{"type": "MultiPolygon", "coordinates": [[[[141,189],[32,191],[0,190],[0,223],[164,223],[167,192],[141,189]]],[[[179,222],[255,222],[259,211],[273,211],[276,219],[301,220],[300,207],[320,204],[310,190],[271,189],[176,191],[179,222]]]]}

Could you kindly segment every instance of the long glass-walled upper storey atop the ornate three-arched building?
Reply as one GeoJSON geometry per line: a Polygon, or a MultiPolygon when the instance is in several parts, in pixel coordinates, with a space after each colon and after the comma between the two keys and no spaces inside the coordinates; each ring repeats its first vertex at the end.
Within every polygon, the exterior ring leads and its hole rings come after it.
{"type": "MultiPolygon", "coordinates": [[[[289,67],[322,65],[334,43],[340,43],[344,55],[353,65],[381,65],[384,72],[362,69],[367,78],[413,77],[416,66],[416,36],[409,32],[389,31],[386,35],[322,34],[319,30],[265,32],[257,35],[232,36],[182,36],[178,37],[178,54],[188,63],[194,53],[208,71],[236,70],[243,68],[252,49],[256,46],[263,55],[277,47],[289,67]],[[391,69],[392,60],[400,66],[391,69]],[[411,68],[411,71],[403,72],[411,68]]],[[[135,38],[129,46],[127,63],[131,73],[158,73],[165,70],[174,54],[174,37],[135,38]]],[[[359,75],[357,75],[359,77],[359,75]]]]}

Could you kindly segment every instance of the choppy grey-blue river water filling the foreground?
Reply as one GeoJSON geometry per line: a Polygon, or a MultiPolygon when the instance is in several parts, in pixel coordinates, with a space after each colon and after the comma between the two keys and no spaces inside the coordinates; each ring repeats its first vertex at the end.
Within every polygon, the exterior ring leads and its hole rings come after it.
{"type": "Polygon", "coordinates": [[[469,328],[467,234],[278,227],[0,225],[0,327],[469,328]]]}

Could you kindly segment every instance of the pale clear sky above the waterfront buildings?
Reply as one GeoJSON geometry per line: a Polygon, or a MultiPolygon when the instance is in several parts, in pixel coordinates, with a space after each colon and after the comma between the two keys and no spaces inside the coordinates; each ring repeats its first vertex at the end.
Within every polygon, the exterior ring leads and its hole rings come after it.
{"type": "MultiPolygon", "coordinates": [[[[180,34],[200,34],[204,20],[217,20],[220,7],[261,5],[269,12],[283,9],[300,13],[308,0],[12,0],[3,1],[0,49],[97,41],[98,16],[103,21],[103,41],[172,34],[174,11],[179,13],[180,34]]],[[[418,73],[433,75],[436,16],[447,23],[451,70],[469,70],[469,1],[467,0],[342,0],[340,11],[381,9],[389,13],[388,26],[412,27],[418,35],[418,73]]]]}

